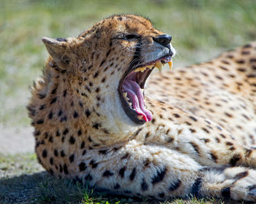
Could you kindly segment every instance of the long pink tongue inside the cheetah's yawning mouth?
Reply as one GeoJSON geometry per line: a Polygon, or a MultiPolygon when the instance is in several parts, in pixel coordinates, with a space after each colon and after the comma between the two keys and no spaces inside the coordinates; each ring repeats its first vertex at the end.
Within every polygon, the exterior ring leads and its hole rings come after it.
{"type": "Polygon", "coordinates": [[[124,92],[127,92],[129,100],[132,101],[132,107],[139,115],[143,115],[146,122],[153,118],[151,111],[145,108],[144,98],[140,86],[132,80],[125,80],[123,83],[124,92]]]}

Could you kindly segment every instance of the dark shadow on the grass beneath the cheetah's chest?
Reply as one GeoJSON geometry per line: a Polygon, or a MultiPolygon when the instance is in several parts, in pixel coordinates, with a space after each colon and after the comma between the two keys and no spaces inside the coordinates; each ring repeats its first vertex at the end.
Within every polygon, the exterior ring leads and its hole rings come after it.
{"type": "MultiPolygon", "coordinates": [[[[159,203],[156,200],[138,200],[93,192],[85,185],[67,179],[58,179],[47,172],[25,174],[0,179],[0,203],[159,203]]],[[[241,203],[223,200],[171,200],[172,203],[241,203]]]]}

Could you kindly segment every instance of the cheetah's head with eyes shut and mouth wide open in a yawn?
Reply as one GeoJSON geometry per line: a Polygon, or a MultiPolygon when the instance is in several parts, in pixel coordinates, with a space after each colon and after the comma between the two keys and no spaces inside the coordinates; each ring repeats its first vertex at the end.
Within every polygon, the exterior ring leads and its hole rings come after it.
{"type": "Polygon", "coordinates": [[[171,36],[138,15],[105,18],[77,38],[43,38],[53,62],[69,73],[76,97],[98,113],[102,127],[138,126],[152,119],[144,85],[154,67],[171,63],[171,36]]]}

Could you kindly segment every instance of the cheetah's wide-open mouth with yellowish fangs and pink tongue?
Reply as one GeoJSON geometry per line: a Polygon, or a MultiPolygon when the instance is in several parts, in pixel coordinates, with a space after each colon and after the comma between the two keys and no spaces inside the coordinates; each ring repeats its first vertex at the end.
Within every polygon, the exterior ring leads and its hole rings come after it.
{"type": "Polygon", "coordinates": [[[118,93],[124,111],[133,122],[143,124],[144,122],[151,121],[153,118],[151,111],[146,109],[145,106],[144,85],[154,67],[162,71],[162,64],[165,63],[168,63],[170,69],[172,68],[173,63],[170,55],[136,66],[126,71],[121,79],[118,93]]]}

